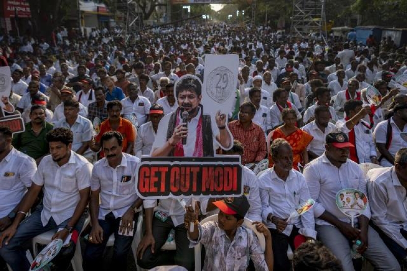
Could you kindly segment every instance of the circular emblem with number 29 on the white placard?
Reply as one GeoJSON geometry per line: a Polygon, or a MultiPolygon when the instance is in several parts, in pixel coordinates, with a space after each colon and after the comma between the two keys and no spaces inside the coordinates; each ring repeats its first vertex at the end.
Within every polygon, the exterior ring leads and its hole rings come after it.
{"type": "Polygon", "coordinates": [[[233,73],[221,66],[208,75],[206,92],[215,102],[222,104],[234,93],[233,73]]]}

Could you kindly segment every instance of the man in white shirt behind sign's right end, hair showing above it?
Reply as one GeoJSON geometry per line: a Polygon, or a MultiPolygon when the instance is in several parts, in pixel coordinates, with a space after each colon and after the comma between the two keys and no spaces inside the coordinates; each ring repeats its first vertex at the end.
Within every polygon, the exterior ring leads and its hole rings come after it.
{"type": "MultiPolygon", "coordinates": [[[[244,154],[244,146],[239,141],[235,140],[233,147],[229,150],[224,151],[224,155],[240,155],[244,154]]],[[[242,184],[243,193],[247,197],[250,203],[250,208],[246,213],[246,218],[251,221],[261,222],[261,202],[260,194],[258,192],[258,179],[256,174],[248,167],[242,166],[242,184]]],[[[213,204],[214,201],[219,200],[219,198],[201,199],[200,209],[202,215],[208,214],[211,210],[214,210],[216,206],[213,204]]]]}

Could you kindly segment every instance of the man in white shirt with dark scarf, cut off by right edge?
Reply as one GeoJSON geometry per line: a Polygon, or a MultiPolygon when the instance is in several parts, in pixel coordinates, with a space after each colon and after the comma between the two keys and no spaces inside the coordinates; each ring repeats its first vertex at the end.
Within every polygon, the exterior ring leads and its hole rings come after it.
{"type": "Polygon", "coordinates": [[[407,104],[397,104],[393,111],[394,115],[379,123],[373,132],[377,150],[381,154],[379,161],[384,167],[393,166],[397,150],[407,147],[407,141],[400,136],[400,133],[407,133],[407,104]]]}

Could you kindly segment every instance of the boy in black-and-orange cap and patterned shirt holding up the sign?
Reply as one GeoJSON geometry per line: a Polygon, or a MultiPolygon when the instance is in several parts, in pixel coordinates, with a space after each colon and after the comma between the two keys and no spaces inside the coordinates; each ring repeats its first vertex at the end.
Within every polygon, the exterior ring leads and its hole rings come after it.
{"type": "MultiPolygon", "coordinates": [[[[205,246],[205,260],[203,270],[246,270],[249,258],[259,271],[273,270],[273,249],[271,235],[266,226],[254,222],[256,229],[265,235],[266,249],[261,251],[254,232],[242,226],[244,217],[249,209],[249,202],[245,196],[226,198],[216,201],[220,210],[218,221],[210,221],[203,225],[199,223],[193,231],[188,232],[190,246],[198,243],[205,246]]],[[[191,222],[197,222],[199,207],[195,211],[192,206],[187,208],[185,225],[189,228],[191,222]]]]}

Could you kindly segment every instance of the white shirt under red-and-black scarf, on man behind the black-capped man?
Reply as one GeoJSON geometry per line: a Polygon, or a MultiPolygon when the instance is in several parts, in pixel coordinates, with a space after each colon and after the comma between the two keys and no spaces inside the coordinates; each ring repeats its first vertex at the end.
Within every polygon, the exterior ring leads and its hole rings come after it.
{"type": "MultiPolygon", "coordinates": [[[[371,163],[370,157],[377,156],[376,145],[373,142],[373,131],[362,123],[367,126],[369,125],[362,120],[353,127],[355,131],[356,152],[358,154],[359,163],[371,163]]],[[[351,131],[346,127],[346,121],[344,119],[340,119],[336,122],[336,129],[339,132],[345,133],[347,136],[349,136],[348,133],[351,131]]]]}

